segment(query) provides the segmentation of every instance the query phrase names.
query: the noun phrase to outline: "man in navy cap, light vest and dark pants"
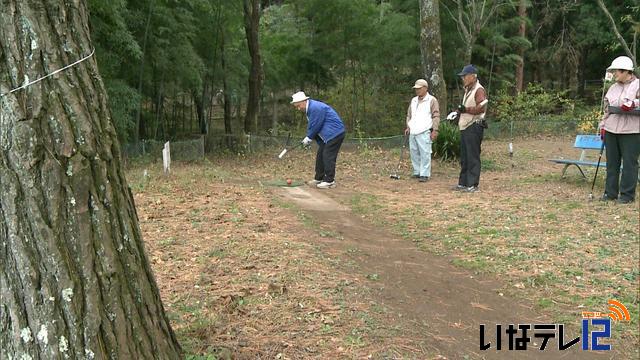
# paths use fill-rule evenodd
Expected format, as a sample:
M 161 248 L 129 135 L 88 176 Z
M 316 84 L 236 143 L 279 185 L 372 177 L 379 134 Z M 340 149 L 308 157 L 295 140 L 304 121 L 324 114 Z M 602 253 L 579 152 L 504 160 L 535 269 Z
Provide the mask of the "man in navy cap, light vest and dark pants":
M 487 94 L 478 81 L 475 66 L 466 65 L 458 74 L 464 84 L 464 97 L 458 106 L 460 128 L 460 177 L 455 190 L 478 191 L 480 184 L 480 151 L 487 112 Z

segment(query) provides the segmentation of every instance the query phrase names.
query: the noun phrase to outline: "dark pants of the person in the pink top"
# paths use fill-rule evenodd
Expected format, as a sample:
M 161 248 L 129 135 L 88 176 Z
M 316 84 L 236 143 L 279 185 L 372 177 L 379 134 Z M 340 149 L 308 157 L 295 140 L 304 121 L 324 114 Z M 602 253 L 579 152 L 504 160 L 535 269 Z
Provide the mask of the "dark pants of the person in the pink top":
M 624 200 L 634 200 L 638 182 L 638 156 L 640 156 L 640 134 L 614 134 L 606 132 L 607 181 L 605 193 L 615 199 L 620 193 Z M 622 177 L 620 164 L 622 163 Z

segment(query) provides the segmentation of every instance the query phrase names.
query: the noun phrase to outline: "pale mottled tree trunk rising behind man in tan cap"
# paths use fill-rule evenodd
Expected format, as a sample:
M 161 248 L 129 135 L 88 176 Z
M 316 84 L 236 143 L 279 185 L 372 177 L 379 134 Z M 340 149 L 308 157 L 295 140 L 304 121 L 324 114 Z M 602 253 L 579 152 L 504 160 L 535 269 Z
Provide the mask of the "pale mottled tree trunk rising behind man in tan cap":
M 440 10 L 437 0 L 420 0 L 420 50 L 429 92 L 438 99 L 440 113 L 446 114 L 447 87 L 442 75 Z

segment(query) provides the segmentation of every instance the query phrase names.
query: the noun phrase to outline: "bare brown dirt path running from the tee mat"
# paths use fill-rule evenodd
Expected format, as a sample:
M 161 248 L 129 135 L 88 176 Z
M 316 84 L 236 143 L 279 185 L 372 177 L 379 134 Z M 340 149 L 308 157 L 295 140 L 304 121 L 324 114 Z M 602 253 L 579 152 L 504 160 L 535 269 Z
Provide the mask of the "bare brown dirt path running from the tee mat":
M 328 253 L 351 251 L 359 269 L 369 278 L 379 301 L 396 314 L 395 321 L 409 324 L 424 334 L 425 343 L 448 359 L 606 359 L 611 353 L 578 350 L 558 351 L 558 339 L 551 339 L 545 351 L 538 350 L 541 338 L 532 336 L 528 351 L 508 351 L 508 324 L 542 324 L 551 321 L 532 310 L 532 304 L 502 296 L 496 279 L 474 275 L 457 268 L 446 257 L 421 252 L 414 244 L 385 232 L 353 214 L 333 199 L 349 196 L 349 190 L 321 191 L 308 187 L 274 188 L 276 195 L 295 203 L 323 229 L 340 234 L 321 241 Z M 345 193 L 346 192 L 346 193 Z M 479 325 L 486 324 L 487 341 L 495 344 L 495 325 L 502 324 L 502 349 L 495 345 L 479 350 Z M 576 337 L 570 332 L 565 335 Z M 571 338 L 572 339 L 572 338 Z M 571 339 L 565 339 L 565 342 Z

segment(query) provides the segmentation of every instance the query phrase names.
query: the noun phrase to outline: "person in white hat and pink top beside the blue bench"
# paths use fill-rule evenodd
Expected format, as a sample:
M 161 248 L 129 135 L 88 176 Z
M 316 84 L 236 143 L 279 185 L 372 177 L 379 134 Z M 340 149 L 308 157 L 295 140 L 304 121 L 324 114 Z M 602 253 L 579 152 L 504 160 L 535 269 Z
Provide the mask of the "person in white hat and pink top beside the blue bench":
M 638 108 L 640 80 L 633 73 L 631 58 L 619 56 L 607 71 L 613 73 L 615 83 L 604 98 L 604 115 L 600 121 L 607 154 L 607 179 L 602 201 L 616 200 L 629 204 L 635 200 L 640 156 L 640 109 Z M 622 177 L 620 165 L 623 164 Z

